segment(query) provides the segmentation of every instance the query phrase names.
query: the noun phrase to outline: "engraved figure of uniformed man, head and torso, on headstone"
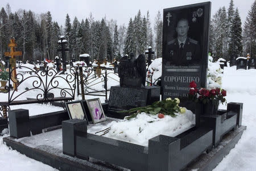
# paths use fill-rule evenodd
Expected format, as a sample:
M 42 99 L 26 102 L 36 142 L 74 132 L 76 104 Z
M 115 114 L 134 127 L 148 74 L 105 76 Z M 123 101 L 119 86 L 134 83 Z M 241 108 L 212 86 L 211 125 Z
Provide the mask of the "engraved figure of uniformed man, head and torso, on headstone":
M 200 59 L 199 42 L 188 37 L 189 23 L 187 19 L 177 22 L 177 37 L 167 42 L 168 61 L 175 65 L 195 63 Z

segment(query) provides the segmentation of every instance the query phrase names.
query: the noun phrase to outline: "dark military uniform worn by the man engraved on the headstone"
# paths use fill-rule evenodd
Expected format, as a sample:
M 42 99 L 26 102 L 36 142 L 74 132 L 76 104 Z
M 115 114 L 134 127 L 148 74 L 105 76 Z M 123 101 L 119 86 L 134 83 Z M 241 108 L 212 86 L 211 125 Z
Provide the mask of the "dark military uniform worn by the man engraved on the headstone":
M 185 42 L 180 42 L 176 39 L 168 42 L 168 55 L 171 63 L 178 65 L 195 63 L 200 60 L 199 42 L 189 37 Z

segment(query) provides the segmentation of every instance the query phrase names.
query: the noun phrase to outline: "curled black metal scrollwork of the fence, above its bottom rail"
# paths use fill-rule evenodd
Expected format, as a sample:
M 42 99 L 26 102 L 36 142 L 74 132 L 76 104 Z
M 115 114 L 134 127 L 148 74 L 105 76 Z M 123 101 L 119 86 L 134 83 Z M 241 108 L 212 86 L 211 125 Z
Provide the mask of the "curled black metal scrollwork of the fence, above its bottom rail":
M 15 100 L 20 100 L 22 95 L 27 92 L 35 92 L 36 95 L 34 96 L 38 102 L 52 101 L 56 96 L 75 98 L 77 73 L 75 67 L 70 67 L 65 74 L 63 74 L 63 71 L 57 72 L 48 67 L 46 67 L 46 70 L 39 72 L 26 66 L 20 66 L 10 70 L 9 74 L 14 72 L 15 69 L 19 70 L 20 68 L 28 70 L 30 75 L 27 76 L 26 74 L 18 72 L 16 75 L 18 86 L 14 91 L 10 91 L 9 89 L 9 104 Z M 11 82 L 13 82 L 13 80 L 9 80 L 9 87 Z M 24 88 L 24 86 L 27 87 Z M 26 91 L 23 91 L 23 89 L 26 89 Z M 57 95 L 58 93 L 59 95 Z

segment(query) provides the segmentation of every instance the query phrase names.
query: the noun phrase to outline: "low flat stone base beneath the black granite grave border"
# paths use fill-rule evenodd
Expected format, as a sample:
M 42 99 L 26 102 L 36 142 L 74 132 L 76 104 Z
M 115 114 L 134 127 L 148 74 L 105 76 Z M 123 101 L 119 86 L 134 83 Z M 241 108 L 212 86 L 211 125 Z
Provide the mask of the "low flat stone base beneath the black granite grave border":
M 228 132 L 221 140 L 219 146 L 213 148 L 209 153 L 202 153 L 186 168 L 183 168 L 183 170 L 212 170 L 220 163 L 223 157 L 234 148 L 244 130 L 246 130 L 246 126 L 241 126 Z M 38 144 L 45 145 L 35 146 L 35 140 Z M 91 157 L 89 157 L 89 160 L 82 160 L 77 157 L 64 155 L 62 145 L 58 145 L 62 142 L 60 129 L 26 137 L 22 140 L 8 136 L 3 138 L 3 142 L 27 157 L 41 161 L 59 170 L 123 170 L 119 166 L 105 163 L 104 161 L 96 160 Z

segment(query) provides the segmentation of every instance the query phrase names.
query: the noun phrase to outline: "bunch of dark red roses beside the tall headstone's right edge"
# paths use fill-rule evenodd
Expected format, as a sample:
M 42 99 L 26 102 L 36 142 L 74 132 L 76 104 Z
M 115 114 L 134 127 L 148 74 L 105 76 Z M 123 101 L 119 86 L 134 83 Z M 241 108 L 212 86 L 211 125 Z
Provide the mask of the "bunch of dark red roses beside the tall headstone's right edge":
M 203 104 L 209 104 L 212 102 L 215 106 L 221 103 L 223 104 L 226 99 L 226 91 L 225 89 L 220 88 L 212 88 L 212 89 L 205 89 L 205 88 L 196 88 L 196 83 L 192 81 L 189 83 L 189 99 L 195 102 L 203 102 Z

